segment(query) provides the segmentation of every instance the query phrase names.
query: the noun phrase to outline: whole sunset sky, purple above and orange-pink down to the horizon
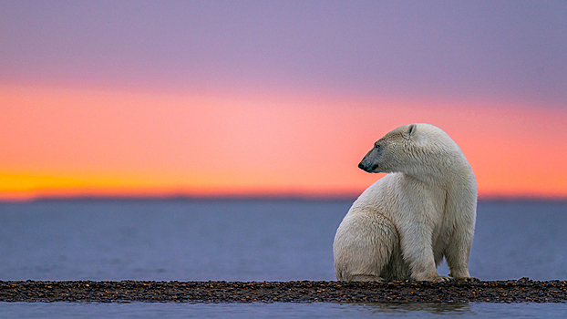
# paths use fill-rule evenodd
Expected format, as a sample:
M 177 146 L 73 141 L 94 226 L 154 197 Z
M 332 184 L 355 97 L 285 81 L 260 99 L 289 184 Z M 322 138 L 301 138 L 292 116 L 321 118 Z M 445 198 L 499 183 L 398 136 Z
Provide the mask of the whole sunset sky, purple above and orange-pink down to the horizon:
M 565 1 L 0 0 L 0 200 L 355 196 L 444 129 L 481 197 L 567 198 Z

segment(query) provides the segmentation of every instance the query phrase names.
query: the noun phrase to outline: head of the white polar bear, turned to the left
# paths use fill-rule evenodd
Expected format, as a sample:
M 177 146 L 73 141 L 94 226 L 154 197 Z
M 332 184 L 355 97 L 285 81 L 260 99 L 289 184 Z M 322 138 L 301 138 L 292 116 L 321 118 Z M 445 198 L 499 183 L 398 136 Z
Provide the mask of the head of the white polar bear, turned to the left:
M 369 173 L 428 175 L 443 170 L 459 153 L 457 144 L 443 130 L 430 124 L 410 124 L 378 139 L 358 167 Z

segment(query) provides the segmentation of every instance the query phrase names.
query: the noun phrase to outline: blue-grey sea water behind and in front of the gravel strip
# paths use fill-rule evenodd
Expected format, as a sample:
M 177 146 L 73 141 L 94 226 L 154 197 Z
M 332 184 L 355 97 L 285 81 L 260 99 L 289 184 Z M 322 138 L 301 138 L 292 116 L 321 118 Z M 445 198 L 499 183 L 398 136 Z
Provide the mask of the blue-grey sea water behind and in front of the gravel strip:
M 352 200 L 0 202 L 0 281 L 333 281 Z M 479 201 L 469 272 L 567 279 L 567 201 Z M 439 274 L 448 274 L 442 264 Z M 567 304 L 0 303 L 0 318 L 567 317 Z

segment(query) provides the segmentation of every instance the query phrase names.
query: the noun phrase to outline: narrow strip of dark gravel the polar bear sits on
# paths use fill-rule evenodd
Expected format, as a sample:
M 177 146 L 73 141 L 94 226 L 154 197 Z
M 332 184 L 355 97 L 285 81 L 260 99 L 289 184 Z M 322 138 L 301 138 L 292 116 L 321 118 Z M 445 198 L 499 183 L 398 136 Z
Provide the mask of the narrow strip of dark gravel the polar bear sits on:
M 2 302 L 565 303 L 567 282 L 0 282 Z

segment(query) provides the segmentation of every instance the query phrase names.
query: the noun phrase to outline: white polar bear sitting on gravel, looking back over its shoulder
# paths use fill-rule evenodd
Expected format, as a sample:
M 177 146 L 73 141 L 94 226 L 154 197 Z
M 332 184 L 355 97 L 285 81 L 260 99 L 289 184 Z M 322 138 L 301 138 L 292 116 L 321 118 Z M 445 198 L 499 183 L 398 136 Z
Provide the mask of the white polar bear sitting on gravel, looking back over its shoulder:
M 394 129 L 358 167 L 388 174 L 358 197 L 336 230 L 337 280 L 478 280 L 469 275 L 477 182 L 447 133 L 423 123 Z M 449 277 L 436 270 L 443 257 Z

